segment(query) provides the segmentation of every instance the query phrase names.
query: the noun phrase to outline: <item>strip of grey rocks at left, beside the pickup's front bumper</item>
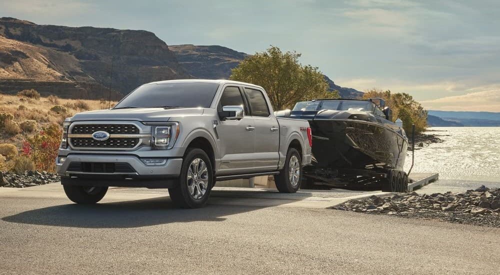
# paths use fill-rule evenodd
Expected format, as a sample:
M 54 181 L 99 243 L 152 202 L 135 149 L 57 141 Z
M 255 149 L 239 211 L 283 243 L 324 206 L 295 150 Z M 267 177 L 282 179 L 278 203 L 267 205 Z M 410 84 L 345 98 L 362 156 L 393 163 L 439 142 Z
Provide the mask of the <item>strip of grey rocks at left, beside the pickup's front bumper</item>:
M 46 171 L 0 172 L 0 187 L 24 188 L 57 181 L 57 174 Z

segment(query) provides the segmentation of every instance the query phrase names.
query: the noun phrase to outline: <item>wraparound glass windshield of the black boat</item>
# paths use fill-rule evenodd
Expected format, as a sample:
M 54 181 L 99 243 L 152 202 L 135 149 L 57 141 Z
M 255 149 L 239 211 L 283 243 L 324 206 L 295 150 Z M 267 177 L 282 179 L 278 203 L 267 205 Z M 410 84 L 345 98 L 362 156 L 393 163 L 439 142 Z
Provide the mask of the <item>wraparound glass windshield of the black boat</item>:
M 349 110 L 358 109 L 362 111 L 373 111 L 374 104 L 367 100 L 314 100 L 297 102 L 292 111 L 315 111 L 322 109 Z

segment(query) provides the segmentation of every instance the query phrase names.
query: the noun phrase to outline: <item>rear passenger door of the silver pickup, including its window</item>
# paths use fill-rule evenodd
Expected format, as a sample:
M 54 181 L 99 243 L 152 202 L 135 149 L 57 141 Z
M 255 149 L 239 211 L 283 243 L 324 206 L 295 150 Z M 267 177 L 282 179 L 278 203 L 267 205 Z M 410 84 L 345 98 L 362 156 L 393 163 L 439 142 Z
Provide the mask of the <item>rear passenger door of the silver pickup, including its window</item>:
M 279 125 L 271 114 L 264 92 L 254 87 L 244 87 L 250 114 L 255 127 L 254 163 L 257 171 L 277 169 L 279 161 Z

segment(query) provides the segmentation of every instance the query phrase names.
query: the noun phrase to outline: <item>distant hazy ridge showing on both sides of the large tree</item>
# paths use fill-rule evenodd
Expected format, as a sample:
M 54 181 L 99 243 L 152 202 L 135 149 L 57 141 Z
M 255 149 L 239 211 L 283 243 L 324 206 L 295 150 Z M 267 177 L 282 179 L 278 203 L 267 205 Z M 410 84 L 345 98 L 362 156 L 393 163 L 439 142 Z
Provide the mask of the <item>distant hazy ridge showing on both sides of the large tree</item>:
M 231 75 L 231 69 L 236 67 L 241 60 L 250 54 L 235 51 L 228 47 L 211 45 L 170 45 L 178 62 L 184 66 L 188 73 L 196 78 L 227 79 Z M 324 76 L 329 90 L 337 90 L 341 97 L 362 97 L 363 92 L 353 88 L 344 88 L 333 82 L 328 76 Z

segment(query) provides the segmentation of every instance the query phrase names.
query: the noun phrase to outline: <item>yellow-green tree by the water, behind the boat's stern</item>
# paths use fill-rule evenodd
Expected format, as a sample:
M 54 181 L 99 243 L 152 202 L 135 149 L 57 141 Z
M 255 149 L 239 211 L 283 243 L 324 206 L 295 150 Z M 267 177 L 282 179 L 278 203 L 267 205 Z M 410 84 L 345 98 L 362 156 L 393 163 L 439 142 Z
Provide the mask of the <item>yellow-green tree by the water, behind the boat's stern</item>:
M 427 111 L 407 93 L 391 93 L 390 90 L 372 88 L 363 94 L 363 98 L 381 97 L 392 109 L 392 120 L 400 118 L 407 134 L 411 133 L 411 124 L 415 124 L 415 132 L 419 133 L 427 127 Z

